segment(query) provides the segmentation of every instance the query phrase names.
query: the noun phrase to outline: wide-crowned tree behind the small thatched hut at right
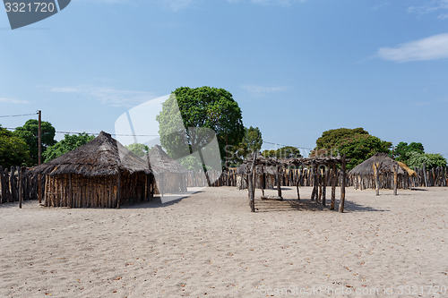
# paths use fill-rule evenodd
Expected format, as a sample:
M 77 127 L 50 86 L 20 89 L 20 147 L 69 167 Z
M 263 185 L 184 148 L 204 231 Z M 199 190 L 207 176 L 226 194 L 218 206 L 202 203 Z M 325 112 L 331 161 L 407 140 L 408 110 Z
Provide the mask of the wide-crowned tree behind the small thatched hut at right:
M 353 130 L 340 128 L 323 132 L 322 137 L 316 140 L 314 155 L 340 154 L 350 159 L 347 169 L 371 158 L 375 153 L 389 153 L 392 143 L 370 135 L 363 128 Z

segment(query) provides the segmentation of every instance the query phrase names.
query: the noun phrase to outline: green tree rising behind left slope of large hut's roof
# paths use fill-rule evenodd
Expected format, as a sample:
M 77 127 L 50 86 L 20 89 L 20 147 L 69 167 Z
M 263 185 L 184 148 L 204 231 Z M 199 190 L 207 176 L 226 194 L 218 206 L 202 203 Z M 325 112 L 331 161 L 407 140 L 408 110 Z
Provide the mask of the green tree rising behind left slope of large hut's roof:
M 44 162 L 48 162 L 52 159 L 60 157 L 61 155 L 81 147 L 90 140 L 95 139 L 94 136 L 89 135 L 85 132 L 79 134 L 65 134 L 64 140 L 60 140 L 53 146 L 49 146 L 45 152 L 42 154 Z

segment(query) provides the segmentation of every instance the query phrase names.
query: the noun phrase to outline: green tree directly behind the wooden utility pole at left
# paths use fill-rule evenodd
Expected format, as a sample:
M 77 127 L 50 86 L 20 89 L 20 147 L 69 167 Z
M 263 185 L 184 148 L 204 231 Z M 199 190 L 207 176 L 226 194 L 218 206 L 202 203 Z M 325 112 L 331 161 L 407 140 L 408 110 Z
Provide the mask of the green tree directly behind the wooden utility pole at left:
M 47 147 L 56 144 L 56 130 L 51 123 L 43 121 L 42 129 L 42 153 Z M 36 119 L 28 120 L 23 126 L 17 127 L 13 135 L 21 138 L 28 145 L 30 150 L 30 165 L 37 165 L 39 161 L 39 121 Z

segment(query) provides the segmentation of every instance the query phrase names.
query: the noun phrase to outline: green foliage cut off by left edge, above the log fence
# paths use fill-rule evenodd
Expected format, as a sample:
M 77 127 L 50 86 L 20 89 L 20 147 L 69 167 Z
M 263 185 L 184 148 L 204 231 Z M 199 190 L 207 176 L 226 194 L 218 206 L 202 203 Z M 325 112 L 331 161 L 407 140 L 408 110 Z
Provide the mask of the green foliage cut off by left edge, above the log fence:
M 28 145 L 0 125 L 0 166 L 25 166 L 30 163 Z

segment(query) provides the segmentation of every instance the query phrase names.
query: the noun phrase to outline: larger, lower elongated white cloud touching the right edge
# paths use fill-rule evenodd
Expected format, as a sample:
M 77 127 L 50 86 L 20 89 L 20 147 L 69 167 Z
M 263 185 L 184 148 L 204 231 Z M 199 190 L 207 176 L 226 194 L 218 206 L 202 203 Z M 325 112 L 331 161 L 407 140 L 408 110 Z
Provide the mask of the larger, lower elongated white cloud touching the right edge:
M 376 55 L 384 60 L 396 62 L 448 58 L 448 33 L 410 41 L 396 47 L 381 47 Z

